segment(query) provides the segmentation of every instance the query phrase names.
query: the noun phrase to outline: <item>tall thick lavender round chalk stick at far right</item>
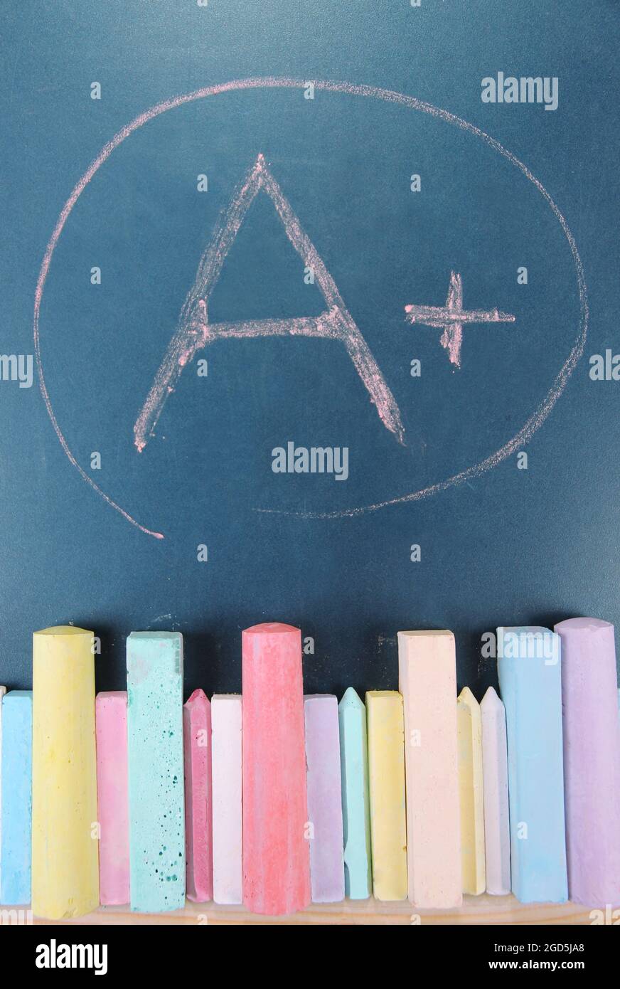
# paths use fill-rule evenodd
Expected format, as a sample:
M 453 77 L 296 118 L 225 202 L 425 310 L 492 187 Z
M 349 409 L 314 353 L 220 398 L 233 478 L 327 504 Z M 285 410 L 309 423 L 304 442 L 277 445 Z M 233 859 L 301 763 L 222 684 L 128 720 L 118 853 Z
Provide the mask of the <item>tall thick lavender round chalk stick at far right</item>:
M 555 626 L 562 714 L 569 896 L 620 905 L 620 730 L 614 629 L 597 618 Z

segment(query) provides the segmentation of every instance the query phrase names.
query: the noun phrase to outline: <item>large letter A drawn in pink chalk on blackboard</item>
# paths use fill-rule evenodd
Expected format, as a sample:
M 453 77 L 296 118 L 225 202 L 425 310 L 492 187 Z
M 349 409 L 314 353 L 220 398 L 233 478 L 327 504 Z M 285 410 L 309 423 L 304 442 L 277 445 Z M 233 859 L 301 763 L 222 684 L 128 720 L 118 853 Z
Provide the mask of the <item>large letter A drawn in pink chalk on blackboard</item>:
M 293 319 L 248 319 L 240 322 L 209 322 L 209 299 L 221 275 L 225 257 L 236 237 L 245 214 L 260 191 L 271 199 L 287 236 L 304 265 L 314 272 L 314 284 L 318 286 L 327 308 L 317 316 Z M 198 266 L 196 281 L 181 310 L 174 336 L 168 344 L 164 358 L 146 401 L 133 426 L 133 443 L 141 452 L 153 430 L 166 399 L 183 371 L 197 353 L 214 340 L 259 336 L 316 336 L 339 340 L 368 391 L 371 402 L 377 406 L 379 417 L 399 443 L 404 442 L 404 429 L 399 406 L 388 388 L 366 340 L 355 320 L 347 310 L 336 284 L 318 256 L 310 238 L 302 229 L 280 186 L 272 176 L 262 154 L 238 186 L 227 209 L 222 213 L 207 250 Z

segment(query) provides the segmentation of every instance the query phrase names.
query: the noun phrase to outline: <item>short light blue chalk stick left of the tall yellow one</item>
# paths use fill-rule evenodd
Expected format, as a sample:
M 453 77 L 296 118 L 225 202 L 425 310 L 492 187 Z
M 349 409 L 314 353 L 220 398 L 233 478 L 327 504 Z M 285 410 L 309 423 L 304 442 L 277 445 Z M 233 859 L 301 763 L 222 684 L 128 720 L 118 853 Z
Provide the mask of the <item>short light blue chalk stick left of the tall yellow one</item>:
M 2 698 L 2 888 L 0 903 L 31 901 L 33 691 Z

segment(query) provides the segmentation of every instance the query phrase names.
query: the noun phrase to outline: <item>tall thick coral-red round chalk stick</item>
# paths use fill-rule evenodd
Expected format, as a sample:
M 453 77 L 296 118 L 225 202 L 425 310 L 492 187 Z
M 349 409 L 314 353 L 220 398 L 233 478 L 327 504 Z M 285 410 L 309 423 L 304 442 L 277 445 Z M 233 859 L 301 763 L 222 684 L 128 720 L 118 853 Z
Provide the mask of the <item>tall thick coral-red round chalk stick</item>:
M 242 652 L 243 903 L 289 914 L 310 904 L 302 634 L 254 625 Z

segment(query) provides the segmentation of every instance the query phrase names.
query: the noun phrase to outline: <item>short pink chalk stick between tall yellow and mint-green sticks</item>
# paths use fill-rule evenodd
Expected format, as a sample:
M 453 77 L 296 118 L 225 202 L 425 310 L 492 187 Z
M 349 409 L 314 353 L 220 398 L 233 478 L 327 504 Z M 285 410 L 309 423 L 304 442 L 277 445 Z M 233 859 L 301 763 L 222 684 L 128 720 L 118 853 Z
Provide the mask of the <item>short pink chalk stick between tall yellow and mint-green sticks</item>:
M 99 816 L 99 902 L 130 902 L 130 809 L 127 762 L 127 691 L 95 698 L 97 803 Z

